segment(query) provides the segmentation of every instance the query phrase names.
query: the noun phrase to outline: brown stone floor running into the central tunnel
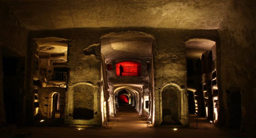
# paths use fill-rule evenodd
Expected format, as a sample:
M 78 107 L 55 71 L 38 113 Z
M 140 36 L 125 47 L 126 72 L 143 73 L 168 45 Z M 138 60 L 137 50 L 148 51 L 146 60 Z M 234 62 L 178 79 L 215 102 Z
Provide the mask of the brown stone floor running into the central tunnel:
M 190 115 L 190 127 L 181 127 L 173 130 L 173 127 L 148 128 L 143 117 L 131 106 L 122 106 L 117 117 L 109 123 L 109 129 L 102 127 L 87 127 L 78 130 L 75 127 L 46 127 L 34 126 L 18 128 L 19 136 L 24 138 L 86 138 L 86 137 L 120 137 L 120 138 L 151 138 L 151 137 L 195 137 L 195 138 L 232 138 L 249 137 L 239 130 L 217 128 L 204 118 L 198 118 L 198 129 L 196 129 L 196 116 Z M 30 133 L 31 132 L 31 133 Z

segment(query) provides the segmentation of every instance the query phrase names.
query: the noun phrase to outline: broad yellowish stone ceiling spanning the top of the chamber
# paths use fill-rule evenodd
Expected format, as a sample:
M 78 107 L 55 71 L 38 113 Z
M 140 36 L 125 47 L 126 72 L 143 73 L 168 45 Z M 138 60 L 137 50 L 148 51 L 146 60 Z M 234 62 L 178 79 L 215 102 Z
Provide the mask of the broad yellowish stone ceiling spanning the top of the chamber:
M 230 0 L 4 1 L 28 29 L 146 26 L 217 29 Z

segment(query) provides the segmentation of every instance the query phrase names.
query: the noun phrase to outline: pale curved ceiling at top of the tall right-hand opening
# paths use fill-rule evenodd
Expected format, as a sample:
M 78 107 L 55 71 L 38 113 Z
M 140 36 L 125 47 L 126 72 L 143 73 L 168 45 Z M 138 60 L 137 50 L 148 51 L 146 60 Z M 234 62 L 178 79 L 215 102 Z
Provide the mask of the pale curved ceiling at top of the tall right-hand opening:
M 211 50 L 216 43 L 208 39 L 191 39 L 185 43 L 186 56 L 191 59 L 201 58 L 202 54 Z

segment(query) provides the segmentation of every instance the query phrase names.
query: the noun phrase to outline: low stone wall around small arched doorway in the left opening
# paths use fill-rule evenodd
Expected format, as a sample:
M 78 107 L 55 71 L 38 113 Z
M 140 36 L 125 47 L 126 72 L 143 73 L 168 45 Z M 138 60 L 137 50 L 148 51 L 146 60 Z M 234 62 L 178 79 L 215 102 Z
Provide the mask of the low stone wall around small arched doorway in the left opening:
M 53 92 L 60 94 L 60 118 L 64 119 L 64 109 L 65 109 L 65 93 L 66 88 L 60 87 L 46 87 L 46 88 L 39 88 L 38 89 L 38 101 L 39 101 L 39 114 L 47 118 L 48 116 L 48 109 L 51 108 L 51 103 L 49 103 L 49 95 Z

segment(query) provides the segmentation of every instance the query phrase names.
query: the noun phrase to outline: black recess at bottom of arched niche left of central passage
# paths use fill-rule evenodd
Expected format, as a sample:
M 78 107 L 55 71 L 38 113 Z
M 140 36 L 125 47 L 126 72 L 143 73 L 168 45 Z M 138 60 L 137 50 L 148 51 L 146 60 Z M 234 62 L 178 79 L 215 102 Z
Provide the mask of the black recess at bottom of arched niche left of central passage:
M 93 110 L 90 110 L 90 109 L 74 108 L 73 118 L 74 119 L 93 119 L 94 113 L 93 113 Z

